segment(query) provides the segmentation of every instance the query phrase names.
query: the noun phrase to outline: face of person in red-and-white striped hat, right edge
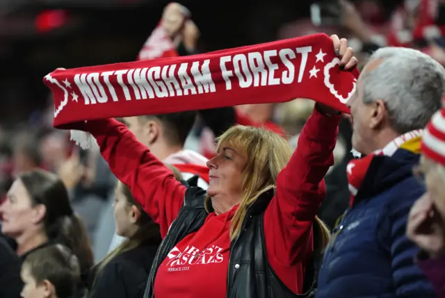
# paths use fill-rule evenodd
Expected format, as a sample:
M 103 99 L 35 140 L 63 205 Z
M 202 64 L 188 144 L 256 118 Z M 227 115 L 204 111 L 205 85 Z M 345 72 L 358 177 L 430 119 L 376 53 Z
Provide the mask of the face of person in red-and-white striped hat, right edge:
M 421 158 L 421 169 L 425 174 L 425 184 L 428 194 L 434 202 L 437 210 L 445 217 L 445 169 L 442 168 L 443 173 L 437 171 L 434 161 L 423 156 Z

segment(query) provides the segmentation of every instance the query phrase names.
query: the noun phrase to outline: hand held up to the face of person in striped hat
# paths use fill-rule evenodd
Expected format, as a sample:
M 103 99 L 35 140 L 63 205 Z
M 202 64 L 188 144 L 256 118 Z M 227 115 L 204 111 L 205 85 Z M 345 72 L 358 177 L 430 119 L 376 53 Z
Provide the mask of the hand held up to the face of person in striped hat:
M 407 223 L 407 237 L 430 258 L 445 253 L 444 220 L 435 210 L 428 192 L 414 203 Z

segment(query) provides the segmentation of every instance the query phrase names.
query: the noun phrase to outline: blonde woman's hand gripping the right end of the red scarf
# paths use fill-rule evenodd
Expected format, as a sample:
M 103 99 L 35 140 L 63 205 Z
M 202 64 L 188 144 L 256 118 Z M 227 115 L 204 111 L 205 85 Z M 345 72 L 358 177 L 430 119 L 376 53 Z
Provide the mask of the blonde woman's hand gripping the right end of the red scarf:
M 350 70 L 357 66 L 359 60 L 354 56 L 354 50 L 348 47 L 348 40 L 346 38 L 339 38 L 336 34 L 331 35 L 332 43 L 334 44 L 335 53 L 340 59 L 340 68 L 343 70 Z M 340 115 L 340 111 L 325 104 L 316 104 L 316 109 L 327 116 Z

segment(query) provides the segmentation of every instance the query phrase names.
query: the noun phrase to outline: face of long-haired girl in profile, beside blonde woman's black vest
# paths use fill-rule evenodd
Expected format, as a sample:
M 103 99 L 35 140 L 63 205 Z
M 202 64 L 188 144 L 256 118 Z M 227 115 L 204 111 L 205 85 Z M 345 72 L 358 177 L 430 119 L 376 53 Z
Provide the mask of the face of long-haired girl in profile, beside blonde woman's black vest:
M 130 238 L 137 229 L 136 215 L 124 194 L 116 192 L 113 202 L 116 233 L 122 237 Z

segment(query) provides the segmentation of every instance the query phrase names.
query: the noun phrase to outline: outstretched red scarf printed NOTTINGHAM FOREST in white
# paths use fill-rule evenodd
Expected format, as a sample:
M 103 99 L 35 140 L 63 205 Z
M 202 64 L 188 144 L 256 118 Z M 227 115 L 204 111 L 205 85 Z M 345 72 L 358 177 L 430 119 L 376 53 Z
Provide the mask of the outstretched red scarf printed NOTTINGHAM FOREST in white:
M 54 95 L 54 126 L 309 98 L 348 113 L 359 72 L 338 67 L 325 34 L 195 56 L 76 69 L 44 77 Z

